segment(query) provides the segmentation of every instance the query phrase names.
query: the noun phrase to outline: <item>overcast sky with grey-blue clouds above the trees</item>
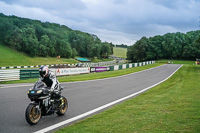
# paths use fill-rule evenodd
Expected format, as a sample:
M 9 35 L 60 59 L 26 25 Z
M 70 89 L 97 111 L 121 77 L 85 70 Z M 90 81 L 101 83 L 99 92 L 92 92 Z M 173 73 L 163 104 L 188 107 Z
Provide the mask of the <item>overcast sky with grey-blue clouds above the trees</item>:
M 114 44 L 200 29 L 200 0 L 0 0 L 0 12 L 59 23 Z

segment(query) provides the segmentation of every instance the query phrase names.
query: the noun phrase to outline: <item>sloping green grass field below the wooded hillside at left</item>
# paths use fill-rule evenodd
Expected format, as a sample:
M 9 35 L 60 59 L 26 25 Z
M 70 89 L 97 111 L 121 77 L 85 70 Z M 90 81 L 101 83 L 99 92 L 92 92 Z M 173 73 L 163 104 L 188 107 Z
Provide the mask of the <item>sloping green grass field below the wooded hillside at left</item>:
M 12 50 L 0 45 L 0 67 L 7 66 L 30 66 L 30 65 L 50 65 L 50 64 L 68 64 L 76 63 L 74 59 L 52 57 L 29 57 L 23 53 Z

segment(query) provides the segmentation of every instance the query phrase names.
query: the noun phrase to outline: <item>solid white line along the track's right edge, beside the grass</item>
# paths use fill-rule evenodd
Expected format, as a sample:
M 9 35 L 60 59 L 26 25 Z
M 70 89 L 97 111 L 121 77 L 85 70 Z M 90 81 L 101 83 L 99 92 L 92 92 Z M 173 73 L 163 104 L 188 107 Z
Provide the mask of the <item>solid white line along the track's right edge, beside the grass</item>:
M 86 116 L 89 116 L 89 115 L 91 115 L 91 114 L 93 114 L 93 113 L 95 113 L 95 112 L 98 112 L 98 111 L 100 111 L 100 110 L 103 110 L 103 109 L 105 109 L 105 108 L 107 108 L 107 107 L 110 107 L 110 106 L 112 106 L 112 105 L 114 105 L 114 104 L 117 104 L 117 103 L 119 103 L 119 102 L 121 102 L 121 101 L 124 101 L 124 100 L 126 100 L 126 99 L 131 98 L 131 97 L 134 97 L 134 96 L 136 96 L 136 95 L 138 95 L 138 94 L 140 94 L 140 93 L 143 93 L 143 92 L 147 91 L 148 89 L 153 88 L 153 87 L 155 87 L 155 86 L 161 84 L 162 82 L 166 81 L 167 79 L 169 79 L 169 78 L 170 78 L 175 72 L 177 72 L 182 66 L 183 66 L 183 65 L 181 65 L 176 71 L 174 71 L 174 72 L 173 72 L 171 75 L 169 75 L 166 79 L 164 79 L 164 80 L 162 80 L 162 81 L 160 81 L 160 82 L 158 82 L 158 83 L 156 83 L 156 84 L 154 84 L 154 85 L 152 85 L 152 86 L 150 86 L 150 87 L 147 87 L 147 88 L 145 88 L 145 89 L 143 89 L 143 90 L 141 90 L 141 91 L 138 91 L 138 92 L 136 92 L 136 93 L 133 93 L 133 94 L 131 94 L 131 95 L 129 95 L 129 96 L 126 96 L 126 97 L 124 97 L 124 98 L 118 99 L 118 100 L 116 100 L 116 101 L 114 101 L 114 102 L 111 102 L 111 103 L 108 103 L 108 104 L 106 104 L 106 105 L 103 105 L 103 106 L 101 106 L 101 107 L 99 107 L 99 108 L 93 109 L 93 110 L 91 110 L 91 111 L 89 111 L 89 112 L 86 112 L 86 113 L 84 113 L 84 114 L 75 116 L 75 117 L 73 117 L 73 118 L 70 118 L 70 119 L 68 119 L 68 120 L 62 121 L 62 122 L 57 123 L 57 124 L 55 124 L 55 125 L 49 126 L 49 127 L 44 128 L 44 129 L 42 129 L 42 130 L 39 130 L 39 131 L 37 131 L 37 132 L 35 132 L 35 133 L 45 133 L 45 132 L 51 131 L 51 130 L 56 129 L 56 128 L 60 127 L 60 126 L 69 124 L 69 123 L 71 123 L 71 122 L 73 122 L 73 121 L 79 120 L 79 119 L 84 118 L 84 117 L 86 117 Z

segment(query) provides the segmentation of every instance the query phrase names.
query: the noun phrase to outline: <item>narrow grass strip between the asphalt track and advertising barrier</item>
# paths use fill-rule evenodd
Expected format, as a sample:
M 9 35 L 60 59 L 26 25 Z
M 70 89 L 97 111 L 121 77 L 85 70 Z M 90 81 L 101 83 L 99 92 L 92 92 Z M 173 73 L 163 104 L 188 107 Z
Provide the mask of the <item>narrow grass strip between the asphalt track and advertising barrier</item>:
M 153 67 L 160 66 L 160 65 L 162 65 L 162 63 L 155 63 L 155 64 L 151 64 L 151 65 L 123 69 L 123 70 L 118 70 L 118 71 L 107 71 L 107 72 L 100 72 L 100 73 L 62 76 L 62 77 L 57 77 L 57 78 L 60 82 L 95 80 L 95 79 L 102 79 L 102 78 L 109 78 L 109 77 L 116 77 L 116 76 L 121 76 L 121 75 L 125 75 L 125 74 L 130 74 L 133 72 L 142 71 L 142 70 L 153 68 Z M 5 82 L 1 82 L 1 84 L 34 83 L 37 80 L 38 80 L 38 78 L 37 79 L 27 79 L 27 80 L 17 80 L 17 81 L 5 81 Z

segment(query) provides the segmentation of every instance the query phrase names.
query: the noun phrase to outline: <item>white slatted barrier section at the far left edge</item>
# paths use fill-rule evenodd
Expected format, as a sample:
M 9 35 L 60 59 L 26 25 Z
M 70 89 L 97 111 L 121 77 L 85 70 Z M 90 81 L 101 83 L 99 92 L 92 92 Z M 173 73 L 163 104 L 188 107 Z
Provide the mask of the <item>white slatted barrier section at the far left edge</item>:
M 0 70 L 0 81 L 19 80 L 19 69 Z

